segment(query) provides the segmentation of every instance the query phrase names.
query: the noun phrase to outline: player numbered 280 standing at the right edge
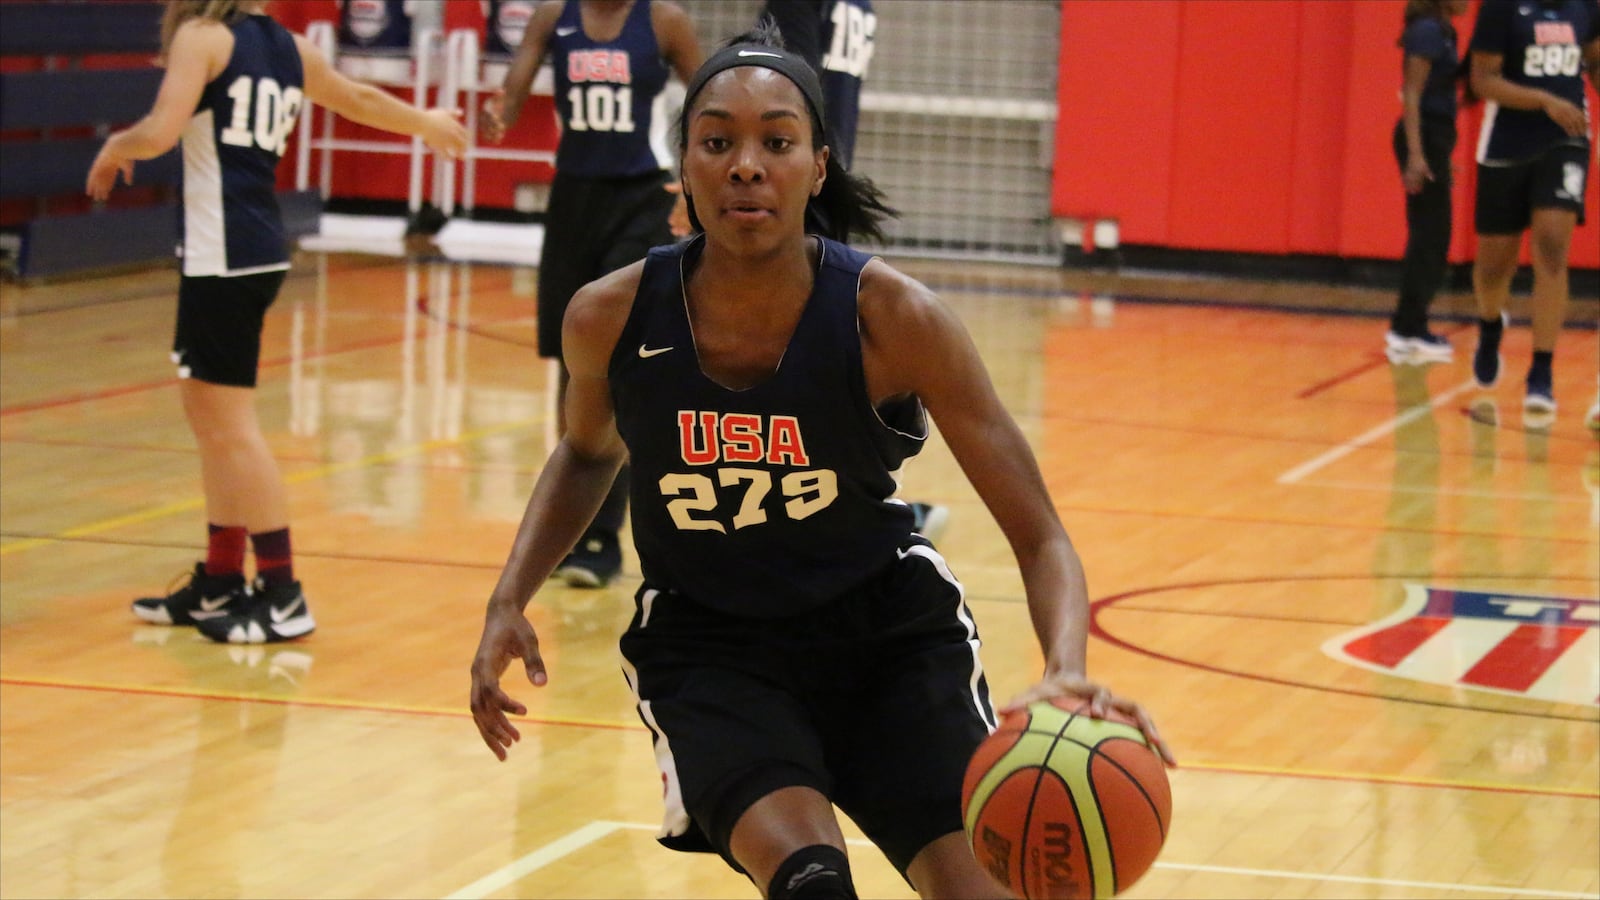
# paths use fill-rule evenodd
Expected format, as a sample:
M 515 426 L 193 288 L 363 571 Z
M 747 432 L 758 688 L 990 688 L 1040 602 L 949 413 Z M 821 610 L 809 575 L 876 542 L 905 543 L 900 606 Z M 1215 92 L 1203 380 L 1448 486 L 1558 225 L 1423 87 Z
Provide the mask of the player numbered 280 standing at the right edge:
M 1478 386 L 1499 380 L 1499 343 L 1522 232 L 1533 255 L 1533 364 L 1523 410 L 1555 413 L 1550 362 L 1566 317 L 1566 251 L 1582 221 L 1590 162 L 1584 70 L 1600 78 L 1597 0 L 1485 0 L 1472 32 L 1472 90 L 1486 101 L 1478 135 Z M 1600 83 L 1600 82 L 1597 82 Z

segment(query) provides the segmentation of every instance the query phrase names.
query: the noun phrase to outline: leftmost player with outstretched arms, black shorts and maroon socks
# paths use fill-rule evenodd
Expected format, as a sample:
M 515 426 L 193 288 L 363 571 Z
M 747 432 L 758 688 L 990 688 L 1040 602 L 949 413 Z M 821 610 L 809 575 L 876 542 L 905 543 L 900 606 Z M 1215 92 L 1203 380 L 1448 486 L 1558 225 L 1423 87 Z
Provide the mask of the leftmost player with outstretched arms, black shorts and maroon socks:
M 200 445 L 205 562 L 165 597 L 133 612 L 197 625 L 206 637 L 259 644 L 315 628 L 290 552 L 288 492 L 256 420 L 261 322 L 290 267 L 275 175 L 304 98 L 355 122 L 418 135 L 459 154 L 467 133 L 448 110 L 421 110 L 334 72 L 262 2 L 178 0 L 162 21 L 166 74 L 150 114 L 106 139 L 88 194 L 104 199 L 118 173 L 182 141 L 182 277 L 173 359 L 189 428 Z M 246 538 L 256 580 L 243 578 Z

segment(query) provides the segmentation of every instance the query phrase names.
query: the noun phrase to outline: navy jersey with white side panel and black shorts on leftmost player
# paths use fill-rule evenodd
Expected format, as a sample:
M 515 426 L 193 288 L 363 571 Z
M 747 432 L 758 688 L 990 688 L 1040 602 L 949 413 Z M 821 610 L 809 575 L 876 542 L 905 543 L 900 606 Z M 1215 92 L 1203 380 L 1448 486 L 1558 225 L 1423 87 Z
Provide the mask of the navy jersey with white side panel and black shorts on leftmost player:
M 299 122 L 304 72 L 270 16 L 230 26 L 234 54 L 182 133 L 179 375 L 254 386 L 261 319 L 290 267 L 277 165 Z

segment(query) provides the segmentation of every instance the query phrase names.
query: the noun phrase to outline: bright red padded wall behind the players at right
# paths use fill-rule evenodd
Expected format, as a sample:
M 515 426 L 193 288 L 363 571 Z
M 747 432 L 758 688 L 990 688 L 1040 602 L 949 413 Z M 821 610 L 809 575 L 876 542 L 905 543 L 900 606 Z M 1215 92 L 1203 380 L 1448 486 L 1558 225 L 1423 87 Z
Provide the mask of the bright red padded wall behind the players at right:
M 1403 6 L 1064 0 L 1053 213 L 1117 218 L 1125 243 L 1397 259 Z M 1458 19 L 1462 50 L 1475 13 Z M 1475 250 L 1480 119 L 1458 122 L 1454 261 Z M 1592 269 L 1600 173 L 1586 202 L 1571 263 Z

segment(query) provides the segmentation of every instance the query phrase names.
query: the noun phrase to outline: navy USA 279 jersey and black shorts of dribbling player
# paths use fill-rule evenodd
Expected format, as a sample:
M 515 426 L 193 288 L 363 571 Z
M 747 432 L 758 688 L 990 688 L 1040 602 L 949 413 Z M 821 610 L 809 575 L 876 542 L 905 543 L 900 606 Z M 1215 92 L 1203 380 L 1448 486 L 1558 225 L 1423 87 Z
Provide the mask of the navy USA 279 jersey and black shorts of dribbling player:
M 926 418 L 867 394 L 870 256 L 816 240 L 782 362 L 746 389 L 699 367 L 683 283 L 704 237 L 645 261 L 610 364 L 643 570 L 622 657 L 666 780 L 662 844 L 731 862 L 749 804 L 803 785 L 904 871 L 962 828 L 960 770 L 994 711 L 962 586 L 891 500 Z

